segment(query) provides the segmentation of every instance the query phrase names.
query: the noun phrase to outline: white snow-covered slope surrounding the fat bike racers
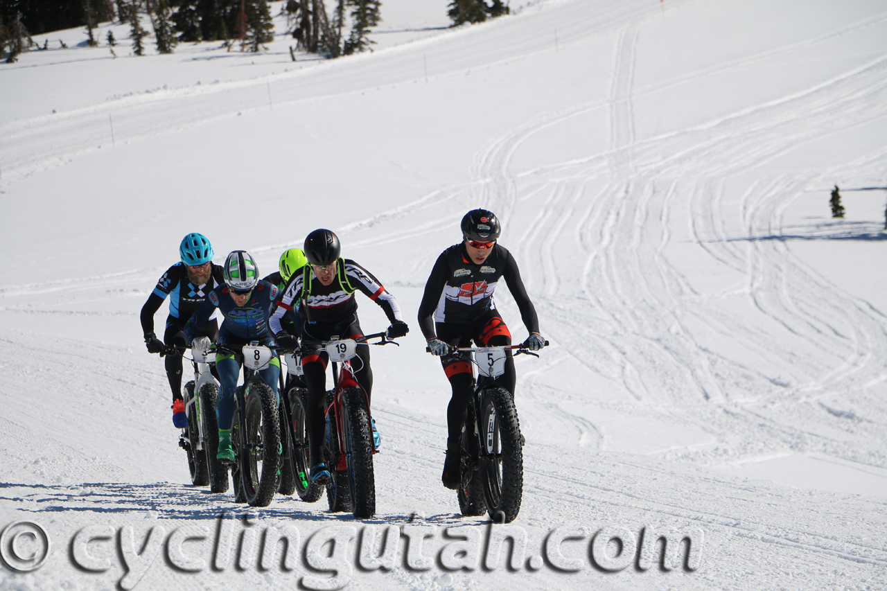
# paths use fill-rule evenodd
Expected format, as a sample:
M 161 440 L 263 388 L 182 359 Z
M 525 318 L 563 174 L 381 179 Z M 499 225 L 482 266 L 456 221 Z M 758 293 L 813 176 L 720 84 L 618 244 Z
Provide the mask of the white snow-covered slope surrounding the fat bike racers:
M 884 192 L 846 191 L 887 185 L 887 7 L 544 0 L 441 29 L 446 4 L 386 0 L 377 50 L 347 59 L 294 62 L 286 35 L 130 57 L 116 26 L 116 59 L 77 29 L 0 65 L 0 527 L 51 548 L 0 589 L 887 588 Z M 553 343 L 518 361 L 516 569 L 483 567 L 497 530 L 440 485 L 448 388 L 414 319 L 474 207 L 504 221 Z M 413 327 L 373 351 L 363 523 L 185 485 L 138 325 L 185 233 L 270 272 L 317 227 Z M 388 525 L 402 556 L 360 567 Z M 255 540 L 285 526 L 294 569 L 263 568 Z M 693 570 L 641 550 L 669 528 Z M 0 546 L 27 556 L 14 531 Z M 594 546 L 612 532 L 627 562 Z

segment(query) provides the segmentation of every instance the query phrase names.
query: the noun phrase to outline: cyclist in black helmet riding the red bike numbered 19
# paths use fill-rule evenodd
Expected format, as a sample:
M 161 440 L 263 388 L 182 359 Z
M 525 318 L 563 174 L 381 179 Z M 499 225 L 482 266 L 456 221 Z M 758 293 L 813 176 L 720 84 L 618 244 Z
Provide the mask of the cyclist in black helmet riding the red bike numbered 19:
M 302 268 L 301 273 L 294 273 L 290 278 L 284 295 L 271 313 L 269 326 L 281 347 L 297 345 L 294 335 L 288 334 L 280 324 L 284 314 L 297 304 L 302 317 L 302 338 L 305 340 L 329 341 L 333 336 L 363 336 L 357 319 L 357 299 L 354 297 L 357 290 L 385 311 L 391 322 L 386 331 L 390 338 L 404 336 L 409 332 L 394 296 L 381 286 L 372 273 L 349 258 L 341 258 L 341 244 L 333 232 L 325 229 L 311 232 L 305 239 L 304 250 L 309 264 Z M 357 357 L 359 361 L 355 363 L 355 377 L 369 399 L 373 391 L 369 345 L 358 344 Z M 326 485 L 331 477 L 321 453 L 326 425 L 324 406 L 327 363 L 329 356 L 319 345 L 316 351 L 302 356 L 302 379 L 308 386 L 305 423 L 308 427 L 310 457 L 314 464 L 310 478 L 318 485 Z M 379 442 L 379 433 L 373 423 L 373 445 L 377 449 Z

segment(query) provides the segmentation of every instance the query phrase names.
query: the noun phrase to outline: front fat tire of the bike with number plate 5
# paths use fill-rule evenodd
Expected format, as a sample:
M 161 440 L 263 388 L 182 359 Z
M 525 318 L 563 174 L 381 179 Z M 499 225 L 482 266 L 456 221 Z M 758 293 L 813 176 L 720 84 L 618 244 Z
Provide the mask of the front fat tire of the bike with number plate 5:
M 491 415 L 495 417 L 492 421 Z M 508 524 L 520 512 L 523 495 L 521 427 L 514 399 L 508 390 L 488 388 L 483 391 L 479 424 L 483 445 L 480 474 L 487 512 L 493 522 Z M 487 430 L 490 427 L 491 433 Z

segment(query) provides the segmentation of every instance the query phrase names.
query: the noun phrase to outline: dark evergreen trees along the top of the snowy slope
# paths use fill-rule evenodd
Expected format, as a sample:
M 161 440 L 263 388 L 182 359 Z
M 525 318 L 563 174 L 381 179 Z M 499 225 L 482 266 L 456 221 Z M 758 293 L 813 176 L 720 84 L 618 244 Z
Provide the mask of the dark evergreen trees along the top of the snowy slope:
M 324 0 L 287 0 L 287 33 L 296 46 L 332 58 L 372 49 L 375 42 L 369 33 L 381 22 L 381 1 L 328 1 L 334 3 L 332 18 Z M 447 14 L 455 27 L 509 12 L 502 0 L 452 0 Z M 31 35 L 75 27 L 85 27 L 87 43 L 98 45 L 93 29 L 118 20 L 130 24 L 133 52 L 142 55 L 147 33 L 139 22 L 140 13 L 150 17 L 161 53 L 173 51 L 178 42 L 198 41 L 224 41 L 229 47 L 239 41 L 242 49 L 259 51 L 274 38 L 267 0 L 0 0 L 0 50 L 8 46 L 8 60 L 14 61 L 15 55 L 34 44 Z M 346 14 L 352 28 L 344 37 Z M 108 44 L 114 43 L 109 34 Z

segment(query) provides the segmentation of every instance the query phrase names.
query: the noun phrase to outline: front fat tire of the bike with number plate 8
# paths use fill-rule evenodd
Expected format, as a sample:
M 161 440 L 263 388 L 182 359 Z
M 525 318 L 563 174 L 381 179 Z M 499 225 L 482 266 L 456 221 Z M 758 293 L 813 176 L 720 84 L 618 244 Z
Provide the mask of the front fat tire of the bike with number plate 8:
M 250 507 L 268 507 L 277 493 L 280 424 L 274 398 L 274 390 L 267 384 L 250 386 L 245 409 L 247 433 L 241 438 L 246 445 L 240 448 L 240 484 Z

